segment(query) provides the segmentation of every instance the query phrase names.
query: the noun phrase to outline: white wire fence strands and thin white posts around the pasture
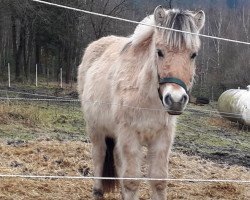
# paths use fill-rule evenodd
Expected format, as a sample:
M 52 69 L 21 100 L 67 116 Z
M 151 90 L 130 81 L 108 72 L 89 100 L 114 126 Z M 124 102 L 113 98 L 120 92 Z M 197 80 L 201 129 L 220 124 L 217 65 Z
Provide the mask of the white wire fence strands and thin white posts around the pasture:
M 78 12 L 84 12 L 84 13 L 88 13 L 88 14 L 94 14 L 94 15 L 98 15 L 101 17 L 109 17 L 115 20 L 122 20 L 122 21 L 126 21 L 126 22 L 130 22 L 130 23 L 136 23 L 138 24 L 139 22 L 135 22 L 132 20 L 126 20 L 126 19 L 122 19 L 122 18 L 118 18 L 118 17 L 112 17 L 112 16 L 107 16 L 107 15 L 103 15 L 103 14 L 99 14 L 99 13 L 93 13 L 93 12 L 89 12 L 89 11 L 85 11 L 85 10 L 80 10 L 80 9 L 76 9 L 76 8 L 71 8 L 71 7 L 67 7 L 67 6 L 62 6 L 62 5 L 58 5 L 58 4 L 53 4 L 53 3 L 49 3 L 49 2 L 44 2 L 44 1 L 39 1 L 39 0 L 33 0 L 34 2 L 38 2 L 38 3 L 43 3 L 43 4 L 47 4 L 50 6 L 57 6 L 60 8 L 65 8 L 65 9 L 69 9 L 69 10 L 74 10 L 74 11 L 78 11 Z M 147 25 L 148 24 L 144 24 Z M 162 27 L 159 27 L 162 28 Z M 171 29 L 172 30 L 172 29 Z M 178 31 L 178 30 L 174 30 L 174 31 Z M 181 31 L 180 31 L 181 32 Z M 193 33 L 189 33 L 189 32 L 185 32 L 188 34 L 193 34 Z M 207 38 L 212 38 L 212 39 L 219 39 L 219 40 L 223 40 L 223 41 L 227 41 L 227 42 L 235 42 L 235 43 L 239 43 L 239 44 L 246 44 L 249 45 L 250 43 L 248 42 L 242 42 L 242 41 L 237 41 L 237 40 L 231 40 L 231 39 L 225 39 L 225 38 L 219 38 L 219 37 L 214 37 L 214 36 L 208 36 L 208 35 L 202 35 L 202 34 L 198 34 L 202 37 L 207 37 Z M 11 86 L 11 80 L 10 80 L 10 65 L 8 65 L 8 85 L 9 87 Z M 37 78 L 37 67 L 36 67 L 36 86 L 38 86 L 38 78 Z M 62 69 L 60 70 L 60 87 L 63 87 L 62 85 Z M 5 91 L 6 92 L 6 91 Z M 22 93 L 19 93 L 22 94 Z M 25 94 L 23 94 L 25 95 Z M 26 95 L 29 95 L 26 93 Z M 39 95 L 39 94 L 32 94 L 33 96 L 36 97 L 40 97 L 40 98 L 34 98 L 34 99 L 30 99 L 30 98 L 9 98 L 9 97 L 1 97 L 0 100 L 2 101 L 48 101 L 48 102 L 52 102 L 52 101 L 56 101 L 56 102 L 78 102 L 78 100 L 76 99 L 71 99 L 71 98 L 58 98 L 58 97 L 54 97 L 54 96 L 44 96 L 44 97 L 49 97 L 49 98 L 41 98 L 43 95 Z M 109 102 L 100 102 L 100 101 L 94 101 L 94 102 L 89 102 L 86 101 L 85 103 L 92 103 L 94 105 L 110 105 Z M 121 105 L 116 105 L 116 106 L 121 106 Z M 148 108 L 142 108 L 142 107 L 136 107 L 136 106 L 131 106 L 131 105 L 122 105 L 125 108 L 130 108 L 130 109 L 142 109 L 142 110 L 148 110 Z M 151 109 L 152 110 L 152 109 Z M 155 110 L 155 109 L 153 109 Z M 217 115 L 219 116 L 219 113 L 217 111 L 212 111 L 212 110 L 205 110 L 205 109 L 189 109 L 188 111 L 192 112 L 201 112 L 202 114 L 208 114 L 208 115 Z M 167 110 L 166 110 L 167 112 Z M 184 124 L 185 125 L 185 124 Z M 197 128 L 185 125 L 190 129 L 196 130 L 196 131 L 200 131 Z M 226 180 L 226 179 L 218 179 L 218 180 L 214 180 L 214 179 L 209 179 L 209 180 L 205 180 L 205 179 L 151 179 L 151 178 L 115 178 L 115 177 L 110 177 L 110 178 L 106 178 L 106 177 L 83 177 L 83 176 L 39 176 L 39 175 L 22 175 L 22 174 L 0 174 L 0 177 L 2 178 L 32 178 L 32 179 L 114 179 L 114 180 L 141 180 L 141 181 L 152 181 L 152 180 L 164 180 L 164 181 L 175 181 L 175 182 L 227 182 L 227 183 L 241 183 L 241 184 L 250 184 L 250 180 Z

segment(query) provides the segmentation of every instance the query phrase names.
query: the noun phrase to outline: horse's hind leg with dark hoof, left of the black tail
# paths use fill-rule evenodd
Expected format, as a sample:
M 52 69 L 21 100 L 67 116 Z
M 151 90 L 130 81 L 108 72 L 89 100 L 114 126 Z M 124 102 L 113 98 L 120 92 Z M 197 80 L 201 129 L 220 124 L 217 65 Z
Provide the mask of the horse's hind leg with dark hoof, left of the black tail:
M 90 131 L 89 131 L 90 132 Z M 104 134 L 90 132 L 90 139 L 92 142 L 92 158 L 94 164 L 94 176 L 102 177 L 103 173 L 103 165 L 106 154 L 106 144 L 105 144 L 105 136 Z M 103 184 L 102 180 L 95 179 L 94 187 L 93 187 L 93 197 L 96 200 L 103 199 Z

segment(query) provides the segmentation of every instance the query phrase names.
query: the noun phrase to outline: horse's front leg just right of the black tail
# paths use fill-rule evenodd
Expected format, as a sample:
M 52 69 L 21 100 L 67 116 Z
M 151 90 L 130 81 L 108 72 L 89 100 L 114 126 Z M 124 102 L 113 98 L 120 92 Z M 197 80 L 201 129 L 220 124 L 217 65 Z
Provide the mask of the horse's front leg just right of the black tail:
M 136 133 L 120 132 L 117 143 L 121 166 L 119 176 L 125 178 L 141 177 L 142 151 Z M 123 200 L 138 200 L 138 180 L 121 180 Z

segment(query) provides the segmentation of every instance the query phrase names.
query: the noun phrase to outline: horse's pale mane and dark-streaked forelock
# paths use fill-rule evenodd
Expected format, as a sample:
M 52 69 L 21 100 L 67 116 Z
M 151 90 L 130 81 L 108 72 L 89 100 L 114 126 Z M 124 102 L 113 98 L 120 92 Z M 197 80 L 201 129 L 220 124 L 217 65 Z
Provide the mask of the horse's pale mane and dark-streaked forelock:
M 165 12 L 166 18 L 164 20 L 164 24 L 162 25 L 163 27 L 192 33 L 199 32 L 191 11 L 172 9 L 166 10 Z M 149 25 L 157 25 L 155 23 L 154 15 L 147 16 L 141 22 Z M 139 24 L 136 27 L 134 34 L 131 36 L 132 45 L 137 46 L 148 40 L 150 37 L 152 38 L 155 30 L 156 29 L 152 26 Z M 197 49 L 200 46 L 200 40 L 197 35 L 180 33 L 166 29 L 161 29 L 160 31 L 162 32 L 163 42 L 170 48 L 180 49 L 184 47 L 188 49 Z

